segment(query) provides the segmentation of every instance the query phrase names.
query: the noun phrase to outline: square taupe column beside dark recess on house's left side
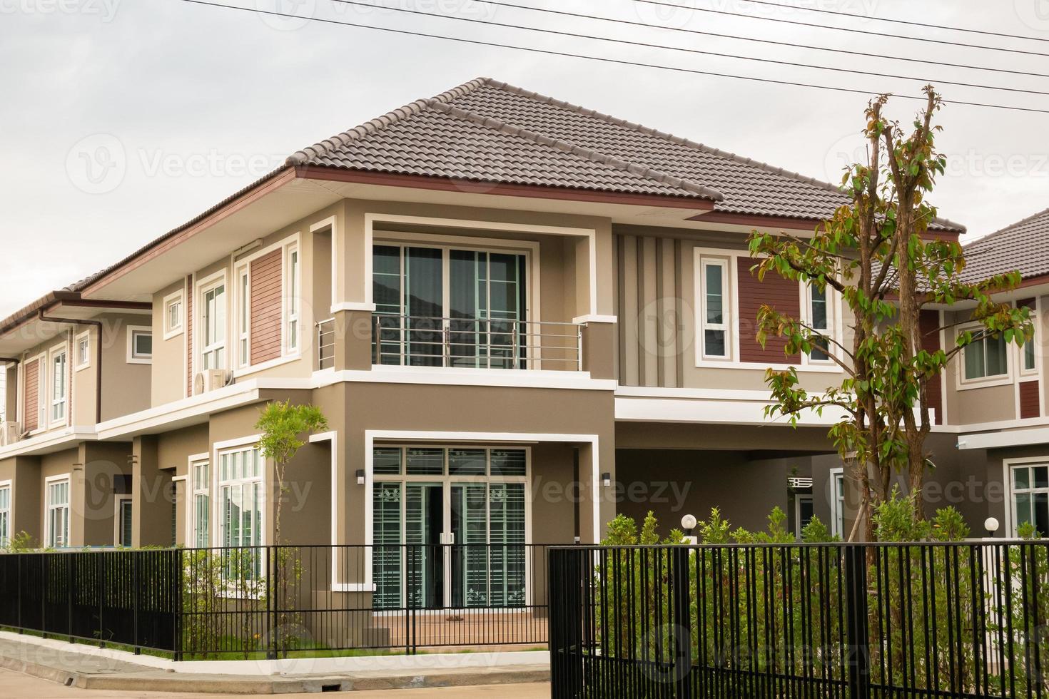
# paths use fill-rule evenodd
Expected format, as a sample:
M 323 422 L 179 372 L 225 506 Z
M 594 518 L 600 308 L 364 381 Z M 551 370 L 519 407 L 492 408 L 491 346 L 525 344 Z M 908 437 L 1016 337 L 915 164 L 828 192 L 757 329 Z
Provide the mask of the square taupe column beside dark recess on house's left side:
M 135 437 L 131 446 L 131 545 L 171 544 L 171 474 L 159 468 L 156 437 Z

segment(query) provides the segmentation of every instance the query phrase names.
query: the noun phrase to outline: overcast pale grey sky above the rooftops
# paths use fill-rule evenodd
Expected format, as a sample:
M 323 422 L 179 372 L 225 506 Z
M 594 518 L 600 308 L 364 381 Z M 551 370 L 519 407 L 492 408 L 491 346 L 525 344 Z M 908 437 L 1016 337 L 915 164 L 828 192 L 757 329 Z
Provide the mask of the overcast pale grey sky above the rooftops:
M 684 68 L 917 94 L 920 80 L 837 73 L 480 26 L 336 0 L 216 0 L 300 16 Z M 648 24 L 774 39 L 792 47 L 645 29 L 475 0 L 372 4 L 637 42 L 1049 92 L 1049 79 L 863 59 L 813 44 L 1049 74 L 1049 56 L 887 39 L 655 7 L 635 0 L 509 0 Z M 671 1 L 671 0 L 666 0 Z M 1046 0 L 774 0 L 1035 37 L 1021 41 L 746 0 L 692 7 L 1049 54 Z M 921 14 L 916 12 L 921 8 Z M 860 146 L 859 94 L 472 46 L 191 4 L 0 0 L 0 316 L 177 226 L 304 146 L 419 97 L 488 75 L 825 180 Z M 1049 95 L 939 83 L 947 100 L 1049 109 Z M 918 103 L 897 100 L 906 121 Z M 1049 205 L 1049 114 L 949 105 L 940 214 L 990 233 Z

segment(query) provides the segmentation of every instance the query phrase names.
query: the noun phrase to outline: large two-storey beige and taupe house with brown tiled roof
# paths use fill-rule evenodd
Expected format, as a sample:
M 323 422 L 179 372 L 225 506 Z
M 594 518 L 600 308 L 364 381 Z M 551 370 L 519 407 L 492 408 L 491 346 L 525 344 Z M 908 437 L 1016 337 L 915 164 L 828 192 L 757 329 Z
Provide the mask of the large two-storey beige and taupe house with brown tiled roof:
M 842 531 L 837 416 L 794 429 L 763 413 L 767 367 L 811 390 L 839 370 L 763 348 L 754 319 L 772 302 L 840 335 L 849 318 L 831 291 L 758 283 L 745 241 L 804 235 L 843 201 L 491 80 L 412 103 L 0 323 L 10 530 L 273 543 L 254 424 L 291 399 L 330 421 L 288 466 L 292 543 L 594 542 L 617 512 L 669 528 L 712 506 L 751 528 L 779 505 L 795 528 L 815 512 Z M 967 389 L 941 389 L 937 479 L 1001 485 L 982 452 L 956 449 L 967 422 L 998 419 Z

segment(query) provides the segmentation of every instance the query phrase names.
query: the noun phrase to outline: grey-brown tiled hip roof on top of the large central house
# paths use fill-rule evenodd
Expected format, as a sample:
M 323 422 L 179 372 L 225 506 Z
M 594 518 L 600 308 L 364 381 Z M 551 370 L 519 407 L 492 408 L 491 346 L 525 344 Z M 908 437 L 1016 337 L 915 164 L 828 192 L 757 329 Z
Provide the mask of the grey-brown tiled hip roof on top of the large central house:
M 715 212 L 813 221 L 848 202 L 833 184 L 487 78 L 394 110 L 288 161 L 700 196 L 713 199 Z

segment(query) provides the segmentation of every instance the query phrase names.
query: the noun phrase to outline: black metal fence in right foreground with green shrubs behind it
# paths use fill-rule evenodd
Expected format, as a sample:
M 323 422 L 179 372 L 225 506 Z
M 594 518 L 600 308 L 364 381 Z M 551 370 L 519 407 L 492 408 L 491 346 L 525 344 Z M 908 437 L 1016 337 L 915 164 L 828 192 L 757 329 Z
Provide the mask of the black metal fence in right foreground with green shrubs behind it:
M 550 550 L 553 696 L 1049 696 L 1049 543 Z

